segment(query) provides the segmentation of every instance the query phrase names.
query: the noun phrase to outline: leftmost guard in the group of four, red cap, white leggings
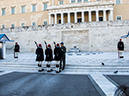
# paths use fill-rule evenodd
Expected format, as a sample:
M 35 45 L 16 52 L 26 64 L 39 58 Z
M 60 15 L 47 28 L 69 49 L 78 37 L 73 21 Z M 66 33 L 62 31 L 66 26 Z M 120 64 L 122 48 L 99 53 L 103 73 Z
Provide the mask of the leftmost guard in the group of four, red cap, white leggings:
M 38 71 L 42 72 L 44 69 L 42 69 L 42 61 L 44 60 L 44 55 L 43 55 L 43 48 L 42 45 L 39 44 L 38 48 L 36 49 L 36 61 L 38 61 Z

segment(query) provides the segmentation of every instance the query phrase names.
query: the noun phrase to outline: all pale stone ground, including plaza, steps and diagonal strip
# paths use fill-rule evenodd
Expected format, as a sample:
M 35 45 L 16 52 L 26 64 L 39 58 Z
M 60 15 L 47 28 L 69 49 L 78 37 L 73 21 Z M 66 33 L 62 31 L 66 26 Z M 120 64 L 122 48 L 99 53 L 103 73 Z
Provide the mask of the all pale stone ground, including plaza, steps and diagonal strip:
M 117 52 L 80 52 L 66 54 L 66 69 L 59 74 L 89 74 L 107 96 L 113 96 L 116 86 L 104 75 L 129 75 L 129 52 L 123 53 L 124 58 L 118 58 Z M 18 59 L 13 54 L 7 54 L 0 60 L 0 75 L 12 72 L 36 72 L 37 62 L 34 53 L 20 53 Z M 105 65 L 102 66 L 101 63 Z M 45 67 L 46 62 L 43 62 Z M 51 63 L 54 69 L 56 62 Z M 118 73 L 113 73 L 118 70 Z M 56 74 L 55 71 L 39 74 Z

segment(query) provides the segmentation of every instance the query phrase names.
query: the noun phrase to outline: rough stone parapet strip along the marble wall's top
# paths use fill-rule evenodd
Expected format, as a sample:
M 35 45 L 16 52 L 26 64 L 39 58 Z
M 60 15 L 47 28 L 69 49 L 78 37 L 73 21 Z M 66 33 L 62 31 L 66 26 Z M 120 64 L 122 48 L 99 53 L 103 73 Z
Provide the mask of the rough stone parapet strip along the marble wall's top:
M 86 29 L 95 27 L 116 27 L 116 26 L 129 26 L 129 20 L 121 21 L 102 21 L 102 22 L 83 22 L 83 23 L 66 23 L 66 24 L 51 24 L 51 25 L 38 25 L 38 26 L 25 26 L 14 28 L 1 28 L 0 33 L 6 32 L 31 32 L 31 31 L 44 31 L 51 29 Z

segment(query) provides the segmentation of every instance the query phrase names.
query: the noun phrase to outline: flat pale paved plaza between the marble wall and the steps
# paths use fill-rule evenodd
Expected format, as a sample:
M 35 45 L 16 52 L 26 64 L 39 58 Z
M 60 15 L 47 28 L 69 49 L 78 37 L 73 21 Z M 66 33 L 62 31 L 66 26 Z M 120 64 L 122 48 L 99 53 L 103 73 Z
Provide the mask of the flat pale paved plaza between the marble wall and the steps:
M 102 62 L 106 65 L 129 65 L 129 52 L 124 52 L 123 55 L 124 58 L 118 58 L 117 52 L 67 53 L 66 65 L 100 65 Z M 37 64 L 35 59 L 35 53 L 19 53 L 19 58 L 13 58 L 13 54 L 7 54 L 6 59 L 0 60 L 0 63 Z M 43 61 L 43 64 L 46 62 Z M 55 61 L 51 64 L 55 64 Z

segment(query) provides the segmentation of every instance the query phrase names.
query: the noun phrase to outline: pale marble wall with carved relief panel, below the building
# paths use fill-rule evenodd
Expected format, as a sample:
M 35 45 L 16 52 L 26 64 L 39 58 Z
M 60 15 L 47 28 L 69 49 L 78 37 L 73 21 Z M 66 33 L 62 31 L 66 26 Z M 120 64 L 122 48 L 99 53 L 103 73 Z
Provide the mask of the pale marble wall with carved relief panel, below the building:
M 14 29 L 0 29 L 0 34 L 6 34 L 21 46 L 21 52 L 35 52 L 37 43 L 45 49 L 44 40 L 52 45 L 53 41 L 63 41 L 67 51 L 77 46 L 81 51 L 117 51 L 117 43 L 121 36 L 129 31 L 129 20 L 84 22 L 71 24 L 55 24 L 47 26 L 26 26 Z M 129 51 L 129 38 L 122 39 L 125 51 Z M 13 50 L 14 43 L 7 42 L 8 50 Z

